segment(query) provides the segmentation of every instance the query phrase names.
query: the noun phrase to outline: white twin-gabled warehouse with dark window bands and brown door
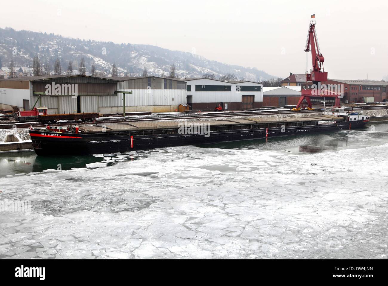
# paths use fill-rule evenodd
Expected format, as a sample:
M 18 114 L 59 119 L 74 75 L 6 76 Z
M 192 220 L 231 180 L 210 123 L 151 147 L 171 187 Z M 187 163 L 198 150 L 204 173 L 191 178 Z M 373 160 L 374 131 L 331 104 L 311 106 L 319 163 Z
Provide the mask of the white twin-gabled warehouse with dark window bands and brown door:
M 187 104 L 192 110 L 214 110 L 223 103 L 225 110 L 261 107 L 263 85 L 251 81 L 219 81 L 216 79 L 182 78 L 187 82 Z

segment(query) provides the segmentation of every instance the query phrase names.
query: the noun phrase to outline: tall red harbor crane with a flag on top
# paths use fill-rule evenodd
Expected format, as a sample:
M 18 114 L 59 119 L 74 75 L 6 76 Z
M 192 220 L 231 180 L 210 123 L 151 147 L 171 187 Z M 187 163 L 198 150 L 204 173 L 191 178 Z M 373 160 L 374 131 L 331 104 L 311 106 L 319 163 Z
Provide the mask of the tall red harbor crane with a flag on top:
M 310 51 L 313 68 L 310 70 L 310 73 L 306 71 L 306 87 L 307 82 L 312 82 L 312 86 L 308 87 L 307 89 L 301 89 L 301 97 L 298 101 L 298 104 L 296 105 L 296 108 L 293 110 L 300 110 L 305 108 L 311 110 L 312 104 L 310 97 L 334 97 L 334 106 L 340 107 L 339 93 L 330 91 L 326 88 L 326 86 L 322 86 L 321 89 L 320 82 L 327 81 L 327 72 L 325 72 L 323 68 L 325 58 L 319 49 L 317 33 L 315 32 L 315 21 L 310 21 L 310 26 L 308 27 L 305 52 L 308 53 Z M 307 105 L 303 105 L 303 100 L 307 101 Z

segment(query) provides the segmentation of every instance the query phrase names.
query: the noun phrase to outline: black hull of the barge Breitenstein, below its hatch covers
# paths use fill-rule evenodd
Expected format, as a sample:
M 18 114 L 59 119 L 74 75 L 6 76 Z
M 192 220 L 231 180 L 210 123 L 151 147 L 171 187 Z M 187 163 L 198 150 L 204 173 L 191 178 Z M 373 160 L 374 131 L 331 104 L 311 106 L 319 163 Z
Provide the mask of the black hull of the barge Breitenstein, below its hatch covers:
M 337 124 L 293 126 L 287 128 L 255 128 L 228 130 L 205 134 L 158 134 L 135 135 L 128 132 L 117 133 L 60 133 L 30 130 L 35 153 L 42 156 L 110 154 L 160 147 L 197 145 L 214 142 L 256 139 L 284 135 L 327 132 L 341 129 L 359 128 L 369 120 L 344 121 Z

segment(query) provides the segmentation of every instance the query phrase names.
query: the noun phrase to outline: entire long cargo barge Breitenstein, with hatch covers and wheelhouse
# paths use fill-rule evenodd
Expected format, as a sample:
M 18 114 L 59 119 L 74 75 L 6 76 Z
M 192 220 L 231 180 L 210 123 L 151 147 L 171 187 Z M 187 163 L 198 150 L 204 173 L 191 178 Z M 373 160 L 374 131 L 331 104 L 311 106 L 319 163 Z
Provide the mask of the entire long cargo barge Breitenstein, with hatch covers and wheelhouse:
M 321 116 L 293 118 L 136 121 L 66 129 L 47 126 L 40 130 L 30 127 L 29 135 L 38 155 L 86 155 L 353 129 L 368 122 L 364 114 L 332 108 Z

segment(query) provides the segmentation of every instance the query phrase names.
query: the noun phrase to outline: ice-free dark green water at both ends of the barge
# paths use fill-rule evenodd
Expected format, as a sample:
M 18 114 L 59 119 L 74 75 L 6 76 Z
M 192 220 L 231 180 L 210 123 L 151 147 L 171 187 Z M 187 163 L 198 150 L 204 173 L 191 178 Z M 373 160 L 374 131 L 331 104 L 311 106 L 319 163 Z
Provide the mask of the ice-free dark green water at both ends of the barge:
M 371 130 L 374 130 L 372 132 Z M 369 123 L 357 130 L 341 130 L 330 133 L 317 133 L 272 137 L 268 139 L 242 140 L 203 144 L 203 148 L 258 149 L 286 151 L 294 154 L 319 153 L 328 150 L 356 149 L 388 143 L 388 122 Z M 152 160 L 152 156 L 149 156 Z M 33 151 L 0 153 L 0 177 L 20 173 L 42 172 L 57 169 L 58 162 L 62 170 L 85 167 L 86 164 L 102 161 L 92 155 L 86 156 L 36 156 Z

